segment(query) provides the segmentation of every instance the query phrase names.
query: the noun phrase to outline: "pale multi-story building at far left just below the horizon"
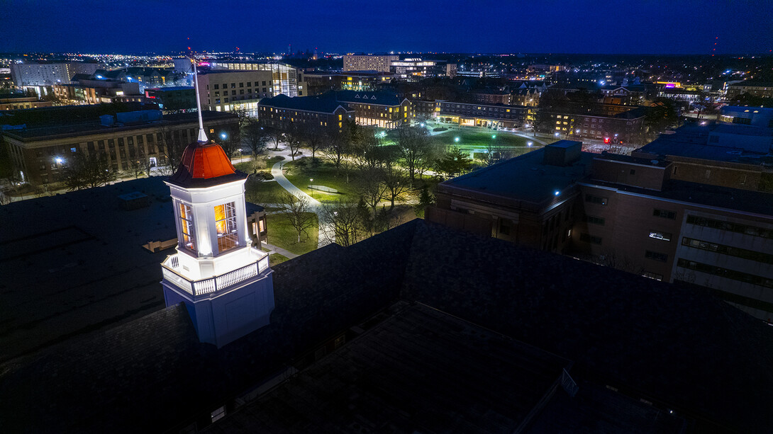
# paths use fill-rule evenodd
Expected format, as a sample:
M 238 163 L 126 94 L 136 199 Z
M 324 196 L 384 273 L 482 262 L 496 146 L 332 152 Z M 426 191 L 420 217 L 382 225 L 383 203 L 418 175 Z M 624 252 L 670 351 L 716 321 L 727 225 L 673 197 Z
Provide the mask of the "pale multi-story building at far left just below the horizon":
M 99 63 L 12 63 L 11 77 L 17 87 L 53 86 L 71 83 L 75 74 L 93 74 Z

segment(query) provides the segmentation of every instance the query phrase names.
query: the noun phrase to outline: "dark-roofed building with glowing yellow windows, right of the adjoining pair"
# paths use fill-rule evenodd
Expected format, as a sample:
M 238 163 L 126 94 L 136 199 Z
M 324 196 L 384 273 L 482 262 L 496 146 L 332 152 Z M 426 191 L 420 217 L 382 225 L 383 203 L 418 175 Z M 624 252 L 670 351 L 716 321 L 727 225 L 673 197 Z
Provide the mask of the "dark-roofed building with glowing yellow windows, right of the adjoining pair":
M 405 97 L 397 97 L 395 93 L 339 90 L 334 94 L 335 100 L 346 103 L 354 110 L 358 125 L 397 128 L 410 125 L 414 119 L 410 101 Z

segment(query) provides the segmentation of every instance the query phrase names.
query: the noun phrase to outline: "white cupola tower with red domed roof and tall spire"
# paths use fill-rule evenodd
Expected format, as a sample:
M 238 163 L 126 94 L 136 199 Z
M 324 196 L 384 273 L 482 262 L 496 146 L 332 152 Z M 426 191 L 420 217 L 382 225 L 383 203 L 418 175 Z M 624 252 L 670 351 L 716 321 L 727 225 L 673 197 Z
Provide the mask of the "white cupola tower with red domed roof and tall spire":
M 199 341 L 218 348 L 269 323 L 274 285 L 268 256 L 250 246 L 244 203 L 247 175 L 233 168 L 204 132 L 165 181 L 172 193 L 177 253 L 162 263 L 167 306 L 185 303 Z

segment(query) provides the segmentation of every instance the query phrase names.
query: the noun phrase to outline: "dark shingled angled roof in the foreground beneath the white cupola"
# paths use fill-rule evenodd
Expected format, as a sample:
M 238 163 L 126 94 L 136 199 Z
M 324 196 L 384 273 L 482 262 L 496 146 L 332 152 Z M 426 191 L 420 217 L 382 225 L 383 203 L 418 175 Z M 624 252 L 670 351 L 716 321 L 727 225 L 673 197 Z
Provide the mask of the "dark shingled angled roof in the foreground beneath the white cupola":
M 577 376 L 687 415 L 696 431 L 773 425 L 773 331 L 705 293 L 416 220 L 274 266 L 274 293 L 271 324 L 220 350 L 175 306 L 0 365 L 0 420 L 12 432 L 182 429 L 404 300 L 573 360 Z M 409 367 L 422 357 L 412 351 Z

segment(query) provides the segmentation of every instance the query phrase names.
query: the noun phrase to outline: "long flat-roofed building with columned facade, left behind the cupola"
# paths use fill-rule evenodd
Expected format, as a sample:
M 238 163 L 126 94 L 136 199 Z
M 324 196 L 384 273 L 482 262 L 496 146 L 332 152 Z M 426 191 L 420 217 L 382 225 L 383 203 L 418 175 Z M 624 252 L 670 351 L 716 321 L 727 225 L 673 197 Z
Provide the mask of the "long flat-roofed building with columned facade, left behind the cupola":
M 89 107 L 50 107 L 46 119 L 62 119 L 57 124 L 25 122 L 2 131 L 19 178 L 33 184 L 60 181 L 71 154 L 104 153 L 116 171 L 130 168 L 132 161 L 152 165 L 168 164 L 164 143 L 184 146 L 196 141 L 198 120 L 195 113 L 162 117 L 158 110 L 105 114 L 99 119 L 80 119 Z M 203 112 L 210 135 L 233 134 L 238 119 L 233 114 Z M 76 120 L 73 120 L 76 119 Z

